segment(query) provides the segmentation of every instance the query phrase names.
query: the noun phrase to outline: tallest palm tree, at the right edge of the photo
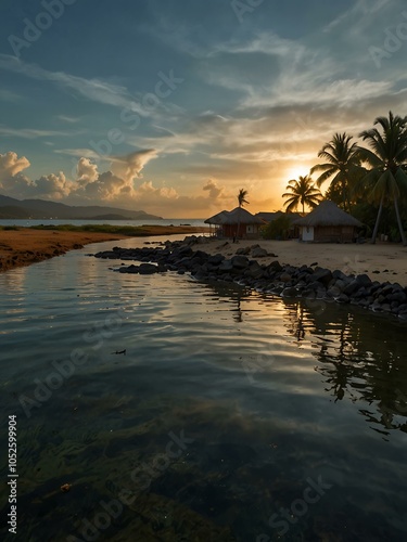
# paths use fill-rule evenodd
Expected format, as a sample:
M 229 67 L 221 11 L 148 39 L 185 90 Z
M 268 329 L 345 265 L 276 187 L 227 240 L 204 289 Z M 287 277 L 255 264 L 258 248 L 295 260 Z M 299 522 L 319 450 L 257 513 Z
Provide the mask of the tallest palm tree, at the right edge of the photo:
M 359 137 L 367 141 L 372 150 L 359 147 L 361 158 L 371 166 L 363 182 L 369 189 L 370 199 L 379 203 L 378 216 L 371 242 L 376 243 L 383 205 L 393 201 L 398 230 L 403 245 L 407 245 L 398 201 L 403 191 L 407 191 L 407 117 L 394 116 L 378 117 L 374 126 L 380 129 L 363 131 Z

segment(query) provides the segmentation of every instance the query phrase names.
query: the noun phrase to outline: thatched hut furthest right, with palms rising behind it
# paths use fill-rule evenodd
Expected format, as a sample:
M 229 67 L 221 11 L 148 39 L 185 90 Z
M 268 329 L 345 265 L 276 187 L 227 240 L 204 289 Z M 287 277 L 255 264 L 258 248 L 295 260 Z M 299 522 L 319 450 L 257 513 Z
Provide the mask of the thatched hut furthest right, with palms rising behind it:
M 333 202 L 321 202 L 306 217 L 294 222 L 302 230 L 303 241 L 349 243 L 355 238 L 355 229 L 363 224 L 340 209 Z

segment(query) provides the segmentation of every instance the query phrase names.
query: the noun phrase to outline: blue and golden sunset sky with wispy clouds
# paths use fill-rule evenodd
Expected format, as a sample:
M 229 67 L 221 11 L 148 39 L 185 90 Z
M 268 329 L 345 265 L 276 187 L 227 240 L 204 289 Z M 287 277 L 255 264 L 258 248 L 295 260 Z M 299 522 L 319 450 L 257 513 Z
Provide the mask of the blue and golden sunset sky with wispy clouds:
M 406 53 L 405 0 L 2 0 L 0 194 L 277 210 L 335 132 L 407 114 Z

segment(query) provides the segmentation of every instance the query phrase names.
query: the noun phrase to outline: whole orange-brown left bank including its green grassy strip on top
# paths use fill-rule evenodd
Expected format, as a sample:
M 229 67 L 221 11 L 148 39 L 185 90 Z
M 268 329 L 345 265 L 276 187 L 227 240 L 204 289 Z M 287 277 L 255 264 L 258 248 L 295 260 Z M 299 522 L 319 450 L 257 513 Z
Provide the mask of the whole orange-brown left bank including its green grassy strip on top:
M 190 225 L 62 224 L 29 228 L 2 225 L 0 227 L 0 272 L 61 256 L 90 243 L 118 241 L 126 237 L 190 235 L 208 231 L 208 228 Z

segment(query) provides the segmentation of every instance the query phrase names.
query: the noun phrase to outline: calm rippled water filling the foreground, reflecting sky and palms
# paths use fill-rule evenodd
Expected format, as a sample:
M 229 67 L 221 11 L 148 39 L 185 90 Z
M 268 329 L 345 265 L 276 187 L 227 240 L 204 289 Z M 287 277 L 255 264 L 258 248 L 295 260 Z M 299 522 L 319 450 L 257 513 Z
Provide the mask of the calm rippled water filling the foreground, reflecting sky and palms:
M 2 539 L 407 540 L 406 325 L 86 256 L 114 244 L 0 274 Z

